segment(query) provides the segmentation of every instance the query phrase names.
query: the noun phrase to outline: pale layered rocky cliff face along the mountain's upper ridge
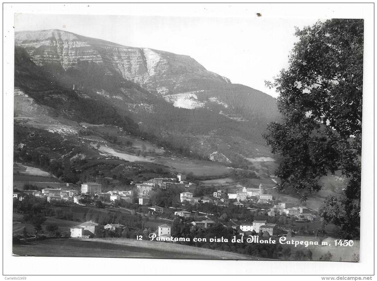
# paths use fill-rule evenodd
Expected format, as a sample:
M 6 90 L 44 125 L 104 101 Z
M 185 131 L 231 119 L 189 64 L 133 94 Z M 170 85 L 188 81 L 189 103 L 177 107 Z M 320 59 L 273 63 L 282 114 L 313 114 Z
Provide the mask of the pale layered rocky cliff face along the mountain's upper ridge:
M 103 63 L 109 72 L 137 82 L 160 94 L 179 94 L 192 79 L 229 79 L 207 71 L 189 56 L 150 48 L 126 47 L 58 29 L 15 33 L 15 45 L 23 47 L 37 65 L 59 63 L 64 69 L 78 60 Z M 190 90 L 198 90 L 191 86 Z

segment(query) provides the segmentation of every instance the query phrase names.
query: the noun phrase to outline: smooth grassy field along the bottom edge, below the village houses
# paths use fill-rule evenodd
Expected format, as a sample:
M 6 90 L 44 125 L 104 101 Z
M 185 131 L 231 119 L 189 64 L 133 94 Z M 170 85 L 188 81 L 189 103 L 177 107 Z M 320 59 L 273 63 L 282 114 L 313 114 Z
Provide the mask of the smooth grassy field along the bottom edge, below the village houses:
M 123 257 L 266 260 L 232 252 L 201 249 L 171 242 L 135 239 L 49 239 L 13 245 L 13 254 L 41 257 Z

